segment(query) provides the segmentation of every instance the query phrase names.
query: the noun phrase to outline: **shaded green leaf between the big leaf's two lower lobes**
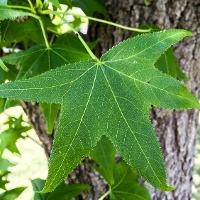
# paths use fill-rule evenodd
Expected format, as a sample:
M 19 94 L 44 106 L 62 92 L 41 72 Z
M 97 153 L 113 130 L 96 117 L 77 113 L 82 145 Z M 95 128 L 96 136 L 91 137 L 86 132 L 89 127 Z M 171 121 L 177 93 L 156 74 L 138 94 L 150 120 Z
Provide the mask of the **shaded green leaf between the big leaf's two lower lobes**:
M 115 149 L 112 143 L 103 136 L 91 152 L 97 162 L 95 167 L 109 185 L 110 199 L 150 200 L 148 190 L 138 182 L 138 175 L 124 161 L 115 160 Z

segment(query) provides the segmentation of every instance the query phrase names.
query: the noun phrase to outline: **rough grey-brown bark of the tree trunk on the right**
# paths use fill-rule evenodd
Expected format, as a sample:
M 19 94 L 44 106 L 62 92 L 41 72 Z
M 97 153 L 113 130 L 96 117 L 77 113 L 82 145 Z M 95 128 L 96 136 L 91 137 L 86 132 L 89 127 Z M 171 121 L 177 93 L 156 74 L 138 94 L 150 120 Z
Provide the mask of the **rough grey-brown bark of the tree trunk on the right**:
M 127 26 L 156 24 L 160 28 L 184 28 L 193 36 L 175 48 L 177 58 L 189 77 L 187 85 L 200 96 L 200 0 L 152 0 L 146 6 L 144 0 L 107 0 L 111 21 Z M 96 49 L 99 55 L 132 33 L 115 27 L 95 24 L 90 38 L 99 38 Z M 165 156 L 169 183 L 176 186 L 172 192 L 159 192 L 150 188 L 153 199 L 191 199 L 192 172 L 198 111 L 153 110 L 156 127 Z

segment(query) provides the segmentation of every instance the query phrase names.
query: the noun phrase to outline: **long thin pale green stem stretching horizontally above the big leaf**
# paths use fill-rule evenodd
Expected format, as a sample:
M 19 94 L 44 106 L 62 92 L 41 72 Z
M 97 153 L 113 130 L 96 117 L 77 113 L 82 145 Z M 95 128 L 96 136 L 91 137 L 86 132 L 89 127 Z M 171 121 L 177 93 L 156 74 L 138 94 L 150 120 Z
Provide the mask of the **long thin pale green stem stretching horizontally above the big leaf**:
M 63 12 L 57 12 L 57 11 L 51 11 L 51 10 L 43 10 L 40 11 L 41 14 L 54 14 L 54 15 L 60 15 L 60 14 L 65 14 Z M 78 14 L 74 14 L 74 13 L 66 13 L 65 15 L 72 15 L 72 16 L 76 16 L 76 17 L 82 17 L 82 18 L 86 18 L 88 20 L 92 20 L 92 21 L 96 21 L 96 22 L 100 22 L 100 23 L 104 23 L 104 24 L 108 24 L 111 26 L 116 26 L 118 28 L 122 28 L 125 30 L 129 30 L 129 31 L 134 31 L 134 32 L 140 32 L 140 33 L 148 33 L 151 31 L 151 29 L 139 29 L 139 28 L 132 28 L 132 27 L 128 27 L 128 26 L 124 26 L 121 24 L 117 24 L 111 21 L 107 21 L 104 19 L 99 19 L 99 18 L 95 18 L 95 17 L 90 17 L 90 16 L 86 16 L 86 15 L 78 15 Z

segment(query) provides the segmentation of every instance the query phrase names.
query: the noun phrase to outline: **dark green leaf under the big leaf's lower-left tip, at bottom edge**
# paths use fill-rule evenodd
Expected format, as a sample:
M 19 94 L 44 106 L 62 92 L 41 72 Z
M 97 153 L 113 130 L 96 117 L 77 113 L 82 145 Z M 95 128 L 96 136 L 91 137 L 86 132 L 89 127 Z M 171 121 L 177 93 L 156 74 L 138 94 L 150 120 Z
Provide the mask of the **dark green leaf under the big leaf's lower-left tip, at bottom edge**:
M 42 194 L 38 191 L 44 187 L 45 180 L 35 179 L 32 181 L 35 191 L 34 200 L 71 200 L 81 192 L 88 190 L 89 185 L 85 184 L 60 184 L 53 192 Z

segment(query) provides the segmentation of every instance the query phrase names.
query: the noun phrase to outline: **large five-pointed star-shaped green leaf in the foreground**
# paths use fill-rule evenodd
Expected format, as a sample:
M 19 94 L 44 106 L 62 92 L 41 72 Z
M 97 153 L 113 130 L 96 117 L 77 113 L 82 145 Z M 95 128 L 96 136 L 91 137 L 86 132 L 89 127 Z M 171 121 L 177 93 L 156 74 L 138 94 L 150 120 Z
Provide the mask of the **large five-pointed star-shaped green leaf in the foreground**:
M 185 30 L 139 35 L 112 48 L 99 62 L 69 64 L 0 86 L 1 97 L 61 104 L 43 191 L 55 189 L 102 135 L 153 186 L 172 189 L 166 183 L 149 110 L 151 105 L 170 109 L 200 105 L 184 85 L 154 64 L 172 44 L 189 35 Z

